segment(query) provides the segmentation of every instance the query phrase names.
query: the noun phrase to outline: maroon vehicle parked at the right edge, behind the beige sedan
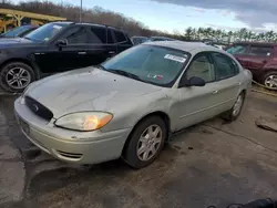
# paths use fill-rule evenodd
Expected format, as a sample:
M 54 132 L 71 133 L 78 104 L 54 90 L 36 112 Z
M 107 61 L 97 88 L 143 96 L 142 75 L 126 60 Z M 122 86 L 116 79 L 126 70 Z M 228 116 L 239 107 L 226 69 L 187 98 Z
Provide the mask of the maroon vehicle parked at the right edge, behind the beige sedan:
M 254 80 L 265 86 L 277 90 L 277 44 L 240 42 L 226 50 L 246 69 Z

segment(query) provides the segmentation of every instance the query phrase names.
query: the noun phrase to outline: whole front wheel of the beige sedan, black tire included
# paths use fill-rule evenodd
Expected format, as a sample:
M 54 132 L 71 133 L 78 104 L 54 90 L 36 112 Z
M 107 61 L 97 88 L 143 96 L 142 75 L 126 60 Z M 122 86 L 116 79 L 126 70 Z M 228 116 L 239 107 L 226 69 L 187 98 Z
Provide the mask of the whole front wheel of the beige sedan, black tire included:
M 144 138 L 143 142 L 141 141 L 141 136 L 147 137 L 148 132 L 145 131 L 150 131 L 151 128 L 153 129 L 153 132 L 158 132 L 157 136 L 155 137 L 156 144 L 154 143 L 154 137 L 152 139 Z M 160 116 L 151 116 L 143 119 L 130 135 L 122 155 L 123 159 L 133 168 L 138 169 L 146 167 L 158 157 L 161 150 L 163 149 L 166 137 L 167 127 L 165 122 Z M 157 143 L 158 141 L 161 142 Z M 148 157 L 146 158 L 146 148 L 150 149 L 151 147 L 155 150 L 155 153 L 153 153 L 153 150 L 150 150 Z M 145 152 L 138 154 L 138 149 L 145 149 Z

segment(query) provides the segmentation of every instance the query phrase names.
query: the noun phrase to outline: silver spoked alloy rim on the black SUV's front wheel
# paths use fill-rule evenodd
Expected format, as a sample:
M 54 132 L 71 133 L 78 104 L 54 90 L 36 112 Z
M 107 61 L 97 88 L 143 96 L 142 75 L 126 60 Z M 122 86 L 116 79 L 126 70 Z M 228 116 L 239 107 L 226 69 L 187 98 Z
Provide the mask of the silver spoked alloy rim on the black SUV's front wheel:
M 31 82 L 31 74 L 23 67 L 13 66 L 6 74 L 6 83 L 12 87 L 22 90 Z

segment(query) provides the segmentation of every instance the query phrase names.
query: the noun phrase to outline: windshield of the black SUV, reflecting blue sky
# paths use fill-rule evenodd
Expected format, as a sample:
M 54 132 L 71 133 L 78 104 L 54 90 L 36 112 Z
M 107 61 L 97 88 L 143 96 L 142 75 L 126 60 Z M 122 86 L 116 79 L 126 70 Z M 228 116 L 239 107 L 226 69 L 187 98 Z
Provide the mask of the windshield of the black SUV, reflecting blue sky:
M 30 32 L 24 38 L 33 40 L 33 41 L 48 42 L 52 38 L 54 38 L 61 31 L 61 29 L 63 29 L 65 25 L 68 25 L 68 24 L 65 24 L 65 23 L 48 23 L 48 24 L 44 24 L 41 28 Z

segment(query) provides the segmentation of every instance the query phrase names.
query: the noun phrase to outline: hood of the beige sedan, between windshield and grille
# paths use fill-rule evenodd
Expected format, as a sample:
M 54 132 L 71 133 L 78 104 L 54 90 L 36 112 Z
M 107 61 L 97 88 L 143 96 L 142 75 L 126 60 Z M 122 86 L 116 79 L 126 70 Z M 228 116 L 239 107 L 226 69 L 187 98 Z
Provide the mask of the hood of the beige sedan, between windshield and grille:
M 48 107 L 58 118 L 80 111 L 114 113 L 117 105 L 135 102 L 162 87 L 96 67 L 74 70 L 33 83 L 24 95 Z

